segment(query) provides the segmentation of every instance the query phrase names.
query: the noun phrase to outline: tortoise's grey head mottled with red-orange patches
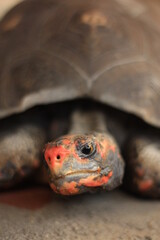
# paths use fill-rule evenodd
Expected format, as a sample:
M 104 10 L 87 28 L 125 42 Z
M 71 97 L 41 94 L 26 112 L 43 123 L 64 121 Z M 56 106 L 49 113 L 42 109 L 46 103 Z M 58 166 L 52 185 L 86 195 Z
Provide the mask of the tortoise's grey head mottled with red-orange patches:
M 112 190 L 122 182 L 124 162 L 109 134 L 66 135 L 48 143 L 44 155 L 56 193 Z

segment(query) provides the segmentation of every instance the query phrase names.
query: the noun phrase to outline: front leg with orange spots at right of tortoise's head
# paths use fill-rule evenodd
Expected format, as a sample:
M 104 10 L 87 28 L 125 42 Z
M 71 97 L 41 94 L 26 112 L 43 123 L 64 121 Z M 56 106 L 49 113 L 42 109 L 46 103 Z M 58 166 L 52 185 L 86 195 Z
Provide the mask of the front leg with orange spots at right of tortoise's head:
M 136 135 L 125 146 L 125 187 L 140 196 L 160 197 L 160 138 Z

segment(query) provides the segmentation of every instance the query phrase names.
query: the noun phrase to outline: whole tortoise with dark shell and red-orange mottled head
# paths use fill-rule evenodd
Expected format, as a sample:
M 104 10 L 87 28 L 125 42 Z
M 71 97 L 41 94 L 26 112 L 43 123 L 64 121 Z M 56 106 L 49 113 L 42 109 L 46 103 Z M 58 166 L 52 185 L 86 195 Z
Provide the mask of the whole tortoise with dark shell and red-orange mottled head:
M 2 19 L 1 189 L 46 165 L 58 194 L 112 190 L 125 170 L 129 191 L 160 196 L 155 6 L 28 0 Z

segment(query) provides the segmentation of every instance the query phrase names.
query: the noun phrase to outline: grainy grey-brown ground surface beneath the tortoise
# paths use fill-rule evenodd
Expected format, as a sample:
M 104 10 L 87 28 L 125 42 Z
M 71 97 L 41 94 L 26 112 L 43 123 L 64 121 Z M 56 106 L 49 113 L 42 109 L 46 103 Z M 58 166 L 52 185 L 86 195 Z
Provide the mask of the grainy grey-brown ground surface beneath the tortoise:
M 159 201 L 136 199 L 121 191 L 71 198 L 60 198 L 50 189 L 43 191 L 51 198 L 47 197 L 50 200 L 34 210 L 23 204 L 8 205 L 14 205 L 15 192 L 8 196 L 13 198 L 12 203 L 4 203 L 8 193 L 1 194 L 0 240 L 160 239 Z M 42 194 L 36 189 L 31 192 L 39 202 Z M 17 194 L 19 198 L 21 193 Z

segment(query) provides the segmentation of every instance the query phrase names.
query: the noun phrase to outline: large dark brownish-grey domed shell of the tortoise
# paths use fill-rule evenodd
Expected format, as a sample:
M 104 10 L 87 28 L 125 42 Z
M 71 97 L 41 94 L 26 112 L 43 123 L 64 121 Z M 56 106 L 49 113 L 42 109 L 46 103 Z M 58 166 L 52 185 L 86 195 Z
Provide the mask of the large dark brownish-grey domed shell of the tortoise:
M 159 9 L 158 0 L 16 6 L 0 22 L 0 117 L 88 96 L 160 126 Z

